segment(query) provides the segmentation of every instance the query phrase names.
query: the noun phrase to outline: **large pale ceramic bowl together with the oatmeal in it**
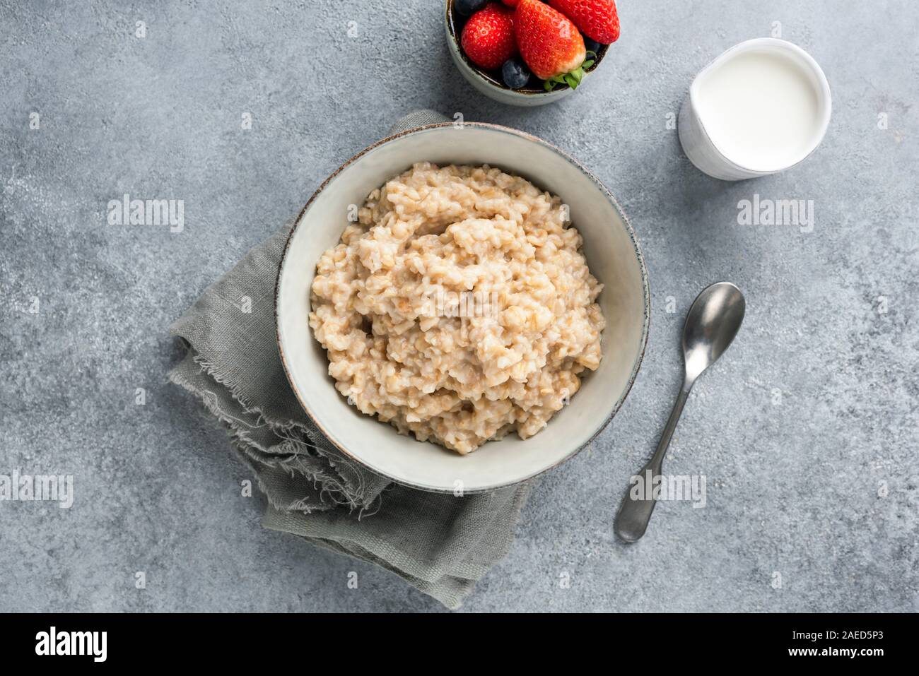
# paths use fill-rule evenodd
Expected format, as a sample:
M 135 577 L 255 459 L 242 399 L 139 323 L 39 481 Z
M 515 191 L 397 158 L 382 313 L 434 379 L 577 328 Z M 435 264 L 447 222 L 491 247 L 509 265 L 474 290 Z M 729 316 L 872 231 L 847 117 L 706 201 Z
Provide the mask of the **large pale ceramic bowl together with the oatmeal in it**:
M 349 160 L 278 272 L 304 411 L 347 456 L 425 490 L 492 490 L 573 456 L 628 394 L 648 316 L 616 200 L 550 144 L 489 124 Z

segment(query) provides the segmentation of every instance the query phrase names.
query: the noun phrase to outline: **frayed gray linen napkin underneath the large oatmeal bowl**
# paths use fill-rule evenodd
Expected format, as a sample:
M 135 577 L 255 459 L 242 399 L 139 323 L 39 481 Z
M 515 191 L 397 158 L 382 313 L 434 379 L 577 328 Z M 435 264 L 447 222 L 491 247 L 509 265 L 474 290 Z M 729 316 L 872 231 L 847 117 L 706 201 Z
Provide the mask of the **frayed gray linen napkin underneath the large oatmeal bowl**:
M 391 132 L 445 120 L 419 110 Z M 289 389 L 275 339 L 289 229 L 246 254 L 171 327 L 187 354 L 169 379 L 226 426 L 267 495 L 266 528 L 375 563 L 458 608 L 505 557 L 531 482 L 463 497 L 415 490 L 358 466 L 319 433 Z

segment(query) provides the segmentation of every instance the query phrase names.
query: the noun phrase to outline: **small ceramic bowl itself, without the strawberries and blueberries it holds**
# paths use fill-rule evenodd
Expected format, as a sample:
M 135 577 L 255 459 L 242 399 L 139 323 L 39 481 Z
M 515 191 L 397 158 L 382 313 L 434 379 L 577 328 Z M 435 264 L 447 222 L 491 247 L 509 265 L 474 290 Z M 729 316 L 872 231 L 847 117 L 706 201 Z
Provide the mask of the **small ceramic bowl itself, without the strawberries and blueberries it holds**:
M 560 84 L 552 91 L 547 92 L 542 86 L 542 81 L 537 80 L 535 77 L 523 89 L 511 89 L 501 79 L 501 73 L 483 71 L 479 66 L 471 62 L 462 51 L 462 47 L 459 46 L 459 36 L 462 35 L 462 27 L 466 22 L 466 17 L 461 17 L 457 12 L 453 11 L 453 0 L 447 0 L 447 11 L 444 19 L 444 25 L 447 28 L 447 46 L 453 62 L 466 81 L 485 96 L 510 106 L 531 107 L 543 106 L 547 103 L 558 101 L 565 96 L 569 96 L 574 91 L 567 84 Z M 584 87 L 584 84 L 590 79 L 590 73 L 599 68 L 600 62 L 603 61 L 603 57 L 607 54 L 608 47 L 609 45 L 600 45 L 594 65 L 585 71 L 584 80 L 578 85 L 578 89 Z

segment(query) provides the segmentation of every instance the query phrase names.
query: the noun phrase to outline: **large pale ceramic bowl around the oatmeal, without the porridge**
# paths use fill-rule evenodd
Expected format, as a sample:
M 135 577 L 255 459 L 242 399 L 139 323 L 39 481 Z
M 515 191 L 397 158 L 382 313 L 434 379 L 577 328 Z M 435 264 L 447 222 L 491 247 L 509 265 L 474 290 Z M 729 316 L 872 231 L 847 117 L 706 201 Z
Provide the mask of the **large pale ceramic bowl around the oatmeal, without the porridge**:
M 340 239 L 349 205 L 415 162 L 488 163 L 562 197 L 584 237 L 584 255 L 603 284 L 603 359 L 571 403 L 539 434 L 508 434 L 467 456 L 398 434 L 349 406 L 328 376 L 328 358 L 308 318 L 316 263 Z M 648 336 L 648 276 L 629 221 L 607 189 L 559 149 L 492 124 L 446 122 L 404 131 L 343 164 L 310 198 L 290 232 L 278 270 L 278 348 L 290 387 L 323 434 L 358 463 L 399 483 L 434 491 L 493 490 L 529 479 L 573 456 L 618 411 L 641 365 Z M 457 482 L 461 483 L 457 483 Z

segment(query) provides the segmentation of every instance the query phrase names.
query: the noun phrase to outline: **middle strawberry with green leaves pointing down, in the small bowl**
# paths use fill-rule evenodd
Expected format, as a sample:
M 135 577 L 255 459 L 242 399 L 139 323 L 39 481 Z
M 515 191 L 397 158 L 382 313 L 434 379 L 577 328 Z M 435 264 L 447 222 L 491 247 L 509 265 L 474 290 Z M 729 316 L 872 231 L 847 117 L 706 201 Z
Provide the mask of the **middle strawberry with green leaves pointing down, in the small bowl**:
M 584 38 L 571 19 L 539 0 L 520 0 L 514 12 L 520 56 L 551 90 L 556 84 L 572 89 L 581 83 L 587 52 Z

